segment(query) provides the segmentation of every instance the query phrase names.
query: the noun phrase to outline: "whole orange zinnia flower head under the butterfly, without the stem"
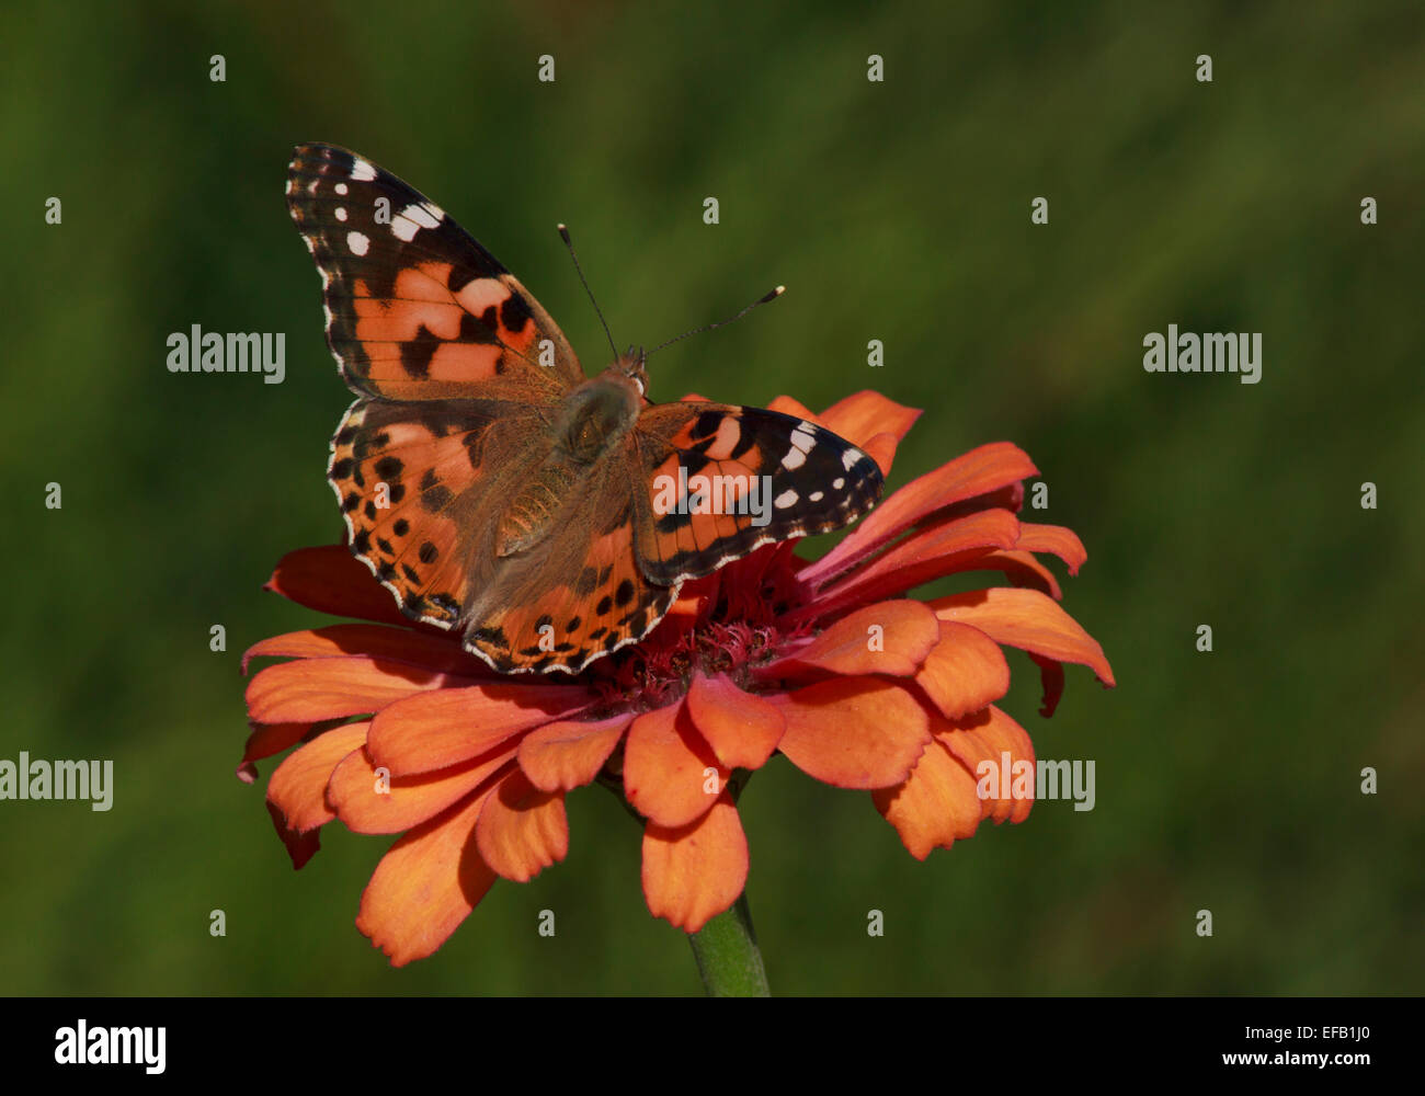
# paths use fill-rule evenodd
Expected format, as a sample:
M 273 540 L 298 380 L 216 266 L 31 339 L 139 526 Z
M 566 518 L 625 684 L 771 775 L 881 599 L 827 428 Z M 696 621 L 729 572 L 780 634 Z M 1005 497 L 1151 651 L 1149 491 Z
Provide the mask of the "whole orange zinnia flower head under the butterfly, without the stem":
M 874 392 L 819 422 L 889 472 L 919 416 Z M 1067 529 L 1020 522 L 1017 448 L 986 445 L 888 497 L 815 563 L 768 544 L 687 583 L 641 643 L 566 678 L 502 677 L 457 634 L 415 626 L 349 552 L 302 549 L 268 589 L 311 609 L 376 621 L 258 643 L 289 658 L 248 686 L 252 734 L 239 775 L 301 744 L 272 774 L 268 808 L 295 867 L 339 818 L 402 834 L 361 902 L 358 928 L 402 965 L 436 951 L 497 877 L 524 882 L 569 847 L 564 794 L 596 780 L 644 818 L 648 909 L 697 932 L 747 879 L 738 770 L 784 754 L 811 777 L 871 791 L 918 858 L 970 837 L 980 820 L 1022 821 L 1029 800 L 982 801 L 982 760 L 1033 762 L 1025 730 L 995 707 L 1009 688 L 1000 646 L 1040 667 L 1043 714 L 1063 664 L 1113 671 L 1057 604 L 1035 557 L 1070 573 L 1086 553 Z M 959 572 L 1012 586 L 916 601 L 908 590 Z M 355 720 L 355 721 L 352 721 Z

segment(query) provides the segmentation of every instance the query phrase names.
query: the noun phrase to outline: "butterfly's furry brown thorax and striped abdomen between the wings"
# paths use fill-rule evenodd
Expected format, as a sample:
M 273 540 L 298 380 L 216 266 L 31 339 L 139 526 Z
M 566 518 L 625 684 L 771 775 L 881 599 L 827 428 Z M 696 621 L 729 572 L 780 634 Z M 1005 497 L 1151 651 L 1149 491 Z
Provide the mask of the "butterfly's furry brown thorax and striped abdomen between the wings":
M 533 547 L 553 530 L 564 503 L 583 493 L 581 482 L 603 473 L 598 465 L 618 450 L 641 403 L 641 391 L 624 372 L 623 358 L 570 391 L 550 426 L 547 456 L 500 516 L 497 556 Z

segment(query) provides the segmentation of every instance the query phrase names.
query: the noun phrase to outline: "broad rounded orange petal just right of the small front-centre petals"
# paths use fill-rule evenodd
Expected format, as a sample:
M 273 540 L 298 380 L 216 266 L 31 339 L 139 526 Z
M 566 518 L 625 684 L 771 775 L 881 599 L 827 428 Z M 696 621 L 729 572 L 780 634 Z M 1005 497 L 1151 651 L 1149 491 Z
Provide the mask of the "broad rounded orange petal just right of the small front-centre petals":
M 802 772 L 838 788 L 888 788 L 905 780 L 931 741 L 921 703 L 893 681 L 838 677 L 779 696 L 778 744 Z

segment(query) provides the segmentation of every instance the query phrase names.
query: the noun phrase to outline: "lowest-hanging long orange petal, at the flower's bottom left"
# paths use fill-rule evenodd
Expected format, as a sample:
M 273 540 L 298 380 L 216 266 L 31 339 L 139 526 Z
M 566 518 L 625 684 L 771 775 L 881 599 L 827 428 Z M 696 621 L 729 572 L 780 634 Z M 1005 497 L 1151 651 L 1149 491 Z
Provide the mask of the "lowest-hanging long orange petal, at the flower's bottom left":
M 361 896 L 356 928 L 392 966 L 425 959 L 446 942 L 497 878 L 472 831 L 482 795 L 418 825 L 390 847 Z

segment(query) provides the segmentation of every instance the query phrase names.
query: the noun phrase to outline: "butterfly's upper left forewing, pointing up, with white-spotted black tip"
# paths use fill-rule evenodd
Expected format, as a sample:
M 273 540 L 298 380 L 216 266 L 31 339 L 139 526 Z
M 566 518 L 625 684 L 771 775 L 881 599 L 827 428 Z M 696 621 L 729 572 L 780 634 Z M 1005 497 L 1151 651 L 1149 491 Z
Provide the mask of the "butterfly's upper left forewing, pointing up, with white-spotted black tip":
M 322 275 L 326 341 L 352 391 L 557 398 L 584 379 L 519 279 L 389 171 L 335 145 L 298 145 L 286 204 Z

